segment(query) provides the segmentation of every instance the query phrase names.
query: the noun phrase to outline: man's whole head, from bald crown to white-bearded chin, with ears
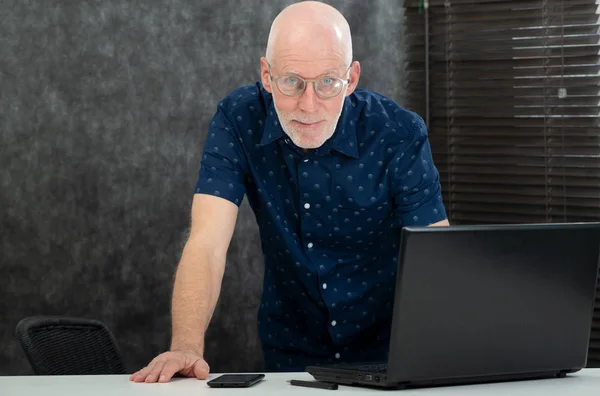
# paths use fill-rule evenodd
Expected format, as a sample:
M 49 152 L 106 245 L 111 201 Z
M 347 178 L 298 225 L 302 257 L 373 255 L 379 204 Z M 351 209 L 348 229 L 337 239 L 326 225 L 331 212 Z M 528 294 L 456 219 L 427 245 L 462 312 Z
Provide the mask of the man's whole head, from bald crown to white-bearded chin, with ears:
M 271 25 L 260 76 L 285 134 L 305 150 L 320 147 L 333 136 L 345 98 L 360 76 L 360 63 L 352 60 L 348 22 L 318 1 L 285 8 Z M 307 80 L 313 82 L 304 84 Z M 290 86 L 298 90 L 292 92 Z M 334 91 L 332 96 L 323 94 L 327 88 Z

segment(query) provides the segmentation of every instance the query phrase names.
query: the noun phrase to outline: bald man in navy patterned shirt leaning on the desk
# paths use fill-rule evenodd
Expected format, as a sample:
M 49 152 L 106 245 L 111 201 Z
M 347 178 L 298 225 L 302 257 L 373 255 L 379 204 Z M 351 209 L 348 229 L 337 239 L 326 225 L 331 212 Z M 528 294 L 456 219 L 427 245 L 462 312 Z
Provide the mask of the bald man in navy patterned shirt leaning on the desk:
M 385 359 L 399 230 L 448 224 L 422 119 L 357 89 L 337 10 L 283 10 L 260 65 L 260 82 L 217 106 L 175 279 L 172 347 L 133 381 L 207 378 L 204 334 L 244 195 L 265 256 L 267 371 Z

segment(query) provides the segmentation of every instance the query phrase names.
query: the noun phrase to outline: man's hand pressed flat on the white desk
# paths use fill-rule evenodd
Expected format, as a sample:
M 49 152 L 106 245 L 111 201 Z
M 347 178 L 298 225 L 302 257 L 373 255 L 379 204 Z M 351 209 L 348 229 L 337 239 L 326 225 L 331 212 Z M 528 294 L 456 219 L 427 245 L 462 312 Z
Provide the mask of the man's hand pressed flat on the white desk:
M 210 368 L 204 358 L 192 351 L 169 351 L 152 359 L 143 369 L 133 373 L 129 380 L 133 382 L 169 382 L 180 373 L 184 377 L 207 379 Z

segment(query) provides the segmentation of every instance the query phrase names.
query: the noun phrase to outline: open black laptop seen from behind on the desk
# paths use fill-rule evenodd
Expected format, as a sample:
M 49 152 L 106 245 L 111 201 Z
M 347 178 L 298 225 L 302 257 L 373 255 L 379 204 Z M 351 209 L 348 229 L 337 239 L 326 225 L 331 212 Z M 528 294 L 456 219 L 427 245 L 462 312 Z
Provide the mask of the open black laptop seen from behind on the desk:
M 600 223 L 405 227 L 387 362 L 316 380 L 412 388 L 565 377 L 586 366 Z

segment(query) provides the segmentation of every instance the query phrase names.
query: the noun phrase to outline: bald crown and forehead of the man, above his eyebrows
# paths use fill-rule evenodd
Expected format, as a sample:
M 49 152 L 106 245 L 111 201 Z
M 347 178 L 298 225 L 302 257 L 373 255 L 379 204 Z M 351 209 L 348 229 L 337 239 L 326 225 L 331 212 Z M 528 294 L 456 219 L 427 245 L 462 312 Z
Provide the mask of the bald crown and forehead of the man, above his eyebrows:
M 267 43 L 270 64 L 287 57 L 339 58 L 352 62 L 352 37 L 344 16 L 318 1 L 302 1 L 285 8 L 273 21 Z

